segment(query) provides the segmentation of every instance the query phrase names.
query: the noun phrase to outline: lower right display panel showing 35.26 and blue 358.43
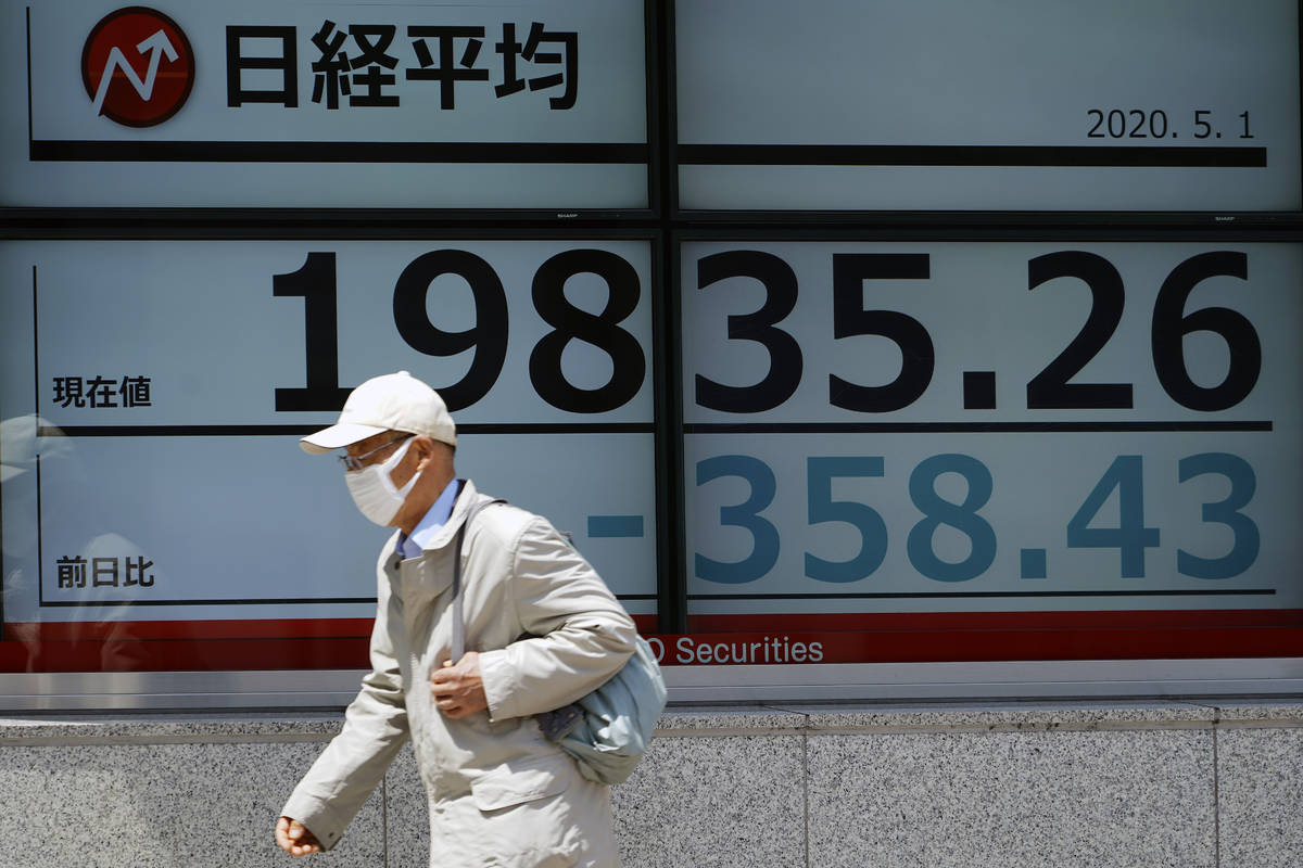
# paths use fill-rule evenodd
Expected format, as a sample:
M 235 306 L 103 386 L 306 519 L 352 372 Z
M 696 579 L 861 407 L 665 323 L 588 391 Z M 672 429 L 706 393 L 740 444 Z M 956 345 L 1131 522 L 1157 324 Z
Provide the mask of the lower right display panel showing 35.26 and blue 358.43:
M 1296 645 L 1298 245 L 691 241 L 680 281 L 696 630 Z

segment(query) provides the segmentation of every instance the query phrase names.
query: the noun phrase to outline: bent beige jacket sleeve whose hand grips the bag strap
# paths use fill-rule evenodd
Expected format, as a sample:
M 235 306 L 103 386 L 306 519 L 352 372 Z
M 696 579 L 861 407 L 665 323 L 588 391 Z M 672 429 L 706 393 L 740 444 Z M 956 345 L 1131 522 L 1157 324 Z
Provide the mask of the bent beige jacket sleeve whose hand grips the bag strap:
M 513 547 L 508 592 L 533 638 L 480 655 L 495 721 L 567 705 L 633 653 L 637 630 L 624 606 L 543 518 L 534 517 Z

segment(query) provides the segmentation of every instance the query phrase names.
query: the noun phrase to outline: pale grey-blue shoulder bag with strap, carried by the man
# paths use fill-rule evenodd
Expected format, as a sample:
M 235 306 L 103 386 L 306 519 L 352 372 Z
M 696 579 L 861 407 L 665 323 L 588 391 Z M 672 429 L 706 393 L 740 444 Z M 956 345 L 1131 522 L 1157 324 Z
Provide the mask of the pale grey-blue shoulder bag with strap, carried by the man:
M 461 544 L 466 526 L 490 504 L 473 506 L 457 528 L 452 560 L 452 660 L 465 653 L 465 622 L 461 609 Z M 657 720 L 665 708 L 665 679 L 652 645 L 637 638 L 633 656 L 601 687 L 562 708 L 536 714 L 538 729 L 549 740 L 575 757 L 580 774 L 598 783 L 623 783 L 646 752 Z

